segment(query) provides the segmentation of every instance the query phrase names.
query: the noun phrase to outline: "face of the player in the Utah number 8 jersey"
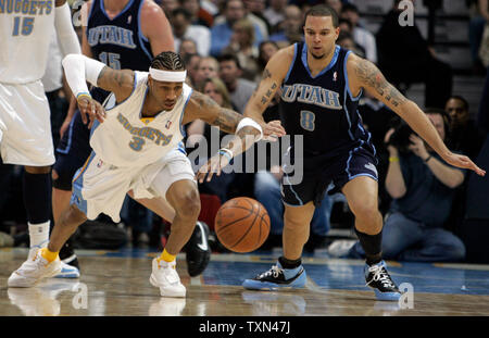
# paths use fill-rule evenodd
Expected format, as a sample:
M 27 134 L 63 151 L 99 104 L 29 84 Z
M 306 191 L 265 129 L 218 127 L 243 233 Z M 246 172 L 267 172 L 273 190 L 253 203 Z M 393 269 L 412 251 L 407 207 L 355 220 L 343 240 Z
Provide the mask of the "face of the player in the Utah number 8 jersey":
M 331 16 L 309 15 L 305 18 L 305 43 L 314 59 L 325 59 L 333 52 L 338 34 L 339 27 L 333 26 Z

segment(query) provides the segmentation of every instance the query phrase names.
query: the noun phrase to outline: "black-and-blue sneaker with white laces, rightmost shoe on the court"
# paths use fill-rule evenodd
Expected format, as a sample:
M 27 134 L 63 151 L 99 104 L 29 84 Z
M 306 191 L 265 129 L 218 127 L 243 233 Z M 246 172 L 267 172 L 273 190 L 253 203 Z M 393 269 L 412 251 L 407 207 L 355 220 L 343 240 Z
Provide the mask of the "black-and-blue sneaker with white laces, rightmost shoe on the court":
M 378 300 L 398 301 L 402 293 L 389 276 L 384 261 L 374 265 L 365 264 L 366 286 L 374 289 Z

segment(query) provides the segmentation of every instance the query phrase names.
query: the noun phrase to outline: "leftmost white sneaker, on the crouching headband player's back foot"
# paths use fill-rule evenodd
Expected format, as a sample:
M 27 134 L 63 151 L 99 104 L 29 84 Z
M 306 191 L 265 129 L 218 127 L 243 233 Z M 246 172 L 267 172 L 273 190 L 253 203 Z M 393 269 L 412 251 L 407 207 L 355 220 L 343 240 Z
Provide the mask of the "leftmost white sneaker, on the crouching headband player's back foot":
M 38 251 L 34 258 L 25 261 L 21 267 L 10 275 L 8 286 L 10 288 L 29 288 L 43 278 L 58 275 L 61 272 L 61 261 L 57 258 L 49 263 Z

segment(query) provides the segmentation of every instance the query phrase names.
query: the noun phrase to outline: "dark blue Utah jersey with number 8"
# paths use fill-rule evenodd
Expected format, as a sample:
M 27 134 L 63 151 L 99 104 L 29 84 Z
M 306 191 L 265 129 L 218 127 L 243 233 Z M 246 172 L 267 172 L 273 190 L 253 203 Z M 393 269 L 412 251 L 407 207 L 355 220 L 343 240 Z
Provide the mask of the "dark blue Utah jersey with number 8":
M 280 118 L 289 135 L 303 135 L 304 157 L 334 158 L 358 147 L 375 149 L 350 92 L 347 59 L 336 46 L 331 62 L 316 76 L 308 66 L 305 42 L 294 45 L 294 59 L 283 84 Z M 293 140 L 292 140 L 293 141 Z

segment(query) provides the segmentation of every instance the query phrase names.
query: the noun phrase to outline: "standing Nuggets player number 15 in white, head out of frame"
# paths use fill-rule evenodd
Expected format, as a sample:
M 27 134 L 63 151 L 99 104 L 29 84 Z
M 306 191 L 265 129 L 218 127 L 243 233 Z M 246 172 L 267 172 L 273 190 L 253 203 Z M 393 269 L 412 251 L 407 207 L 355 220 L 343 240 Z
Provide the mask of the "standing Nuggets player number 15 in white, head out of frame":
M 40 79 L 54 32 L 64 55 L 80 53 L 65 0 L 0 2 L 0 152 L 3 163 L 25 167 L 29 258 L 49 239 L 54 153 Z

